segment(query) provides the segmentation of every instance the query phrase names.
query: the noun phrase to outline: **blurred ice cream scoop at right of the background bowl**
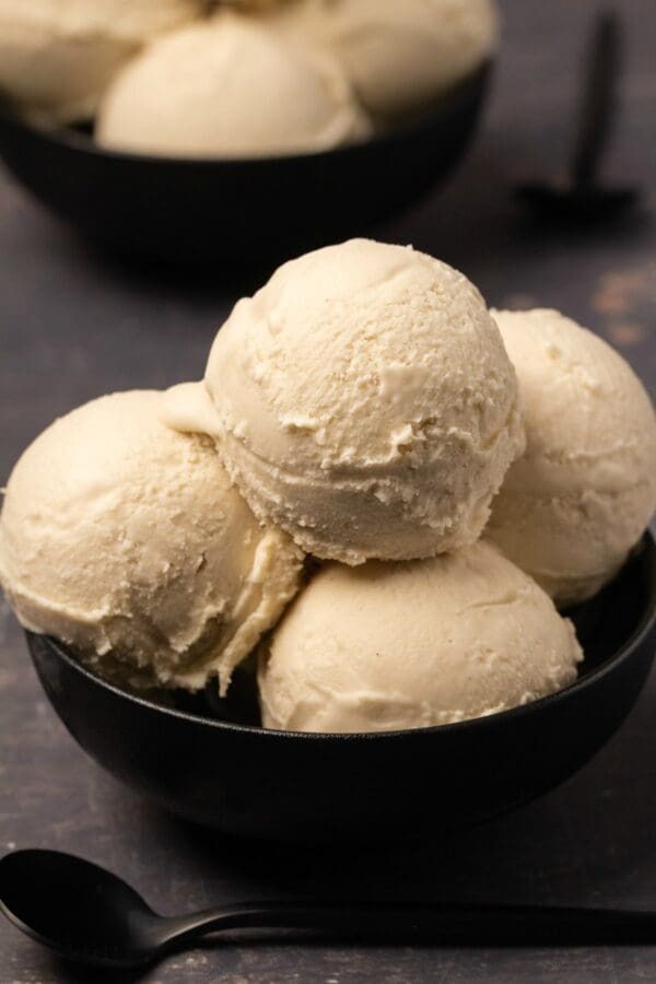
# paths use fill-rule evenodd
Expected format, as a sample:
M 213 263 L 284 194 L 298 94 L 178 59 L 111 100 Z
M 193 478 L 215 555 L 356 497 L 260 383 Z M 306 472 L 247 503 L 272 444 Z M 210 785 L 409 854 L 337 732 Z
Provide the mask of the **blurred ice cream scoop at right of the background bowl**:
M 277 23 L 335 51 L 363 105 L 398 116 L 435 99 L 496 46 L 495 0 L 302 0 Z

